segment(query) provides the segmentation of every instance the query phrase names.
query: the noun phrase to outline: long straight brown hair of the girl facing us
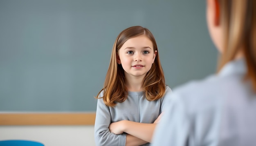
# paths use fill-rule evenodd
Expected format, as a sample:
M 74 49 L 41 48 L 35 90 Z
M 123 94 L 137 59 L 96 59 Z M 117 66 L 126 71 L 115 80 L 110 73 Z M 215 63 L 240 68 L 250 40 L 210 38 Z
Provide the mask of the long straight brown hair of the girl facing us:
M 103 97 L 99 97 L 101 91 L 96 97 L 103 98 L 103 101 L 107 106 L 113 107 L 117 102 L 124 102 L 127 98 L 128 89 L 126 88 L 126 78 L 124 76 L 123 67 L 121 64 L 117 64 L 117 52 L 128 39 L 139 35 L 148 37 L 153 43 L 154 52 L 157 50 L 155 62 L 152 64 L 151 69 L 144 78 L 143 88 L 146 99 L 149 101 L 158 100 L 165 93 L 164 72 L 160 63 L 157 44 L 153 34 L 148 29 L 141 26 L 129 27 L 122 31 L 115 40 L 105 83 L 101 90 L 103 91 Z

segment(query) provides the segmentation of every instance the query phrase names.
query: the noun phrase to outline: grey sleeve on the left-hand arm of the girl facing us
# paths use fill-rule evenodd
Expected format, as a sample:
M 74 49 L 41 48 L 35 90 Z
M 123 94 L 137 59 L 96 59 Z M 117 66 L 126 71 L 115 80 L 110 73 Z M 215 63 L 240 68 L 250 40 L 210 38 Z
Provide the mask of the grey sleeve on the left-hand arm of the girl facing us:
M 109 131 L 111 115 L 109 107 L 103 98 L 97 101 L 96 119 L 94 124 L 94 139 L 96 146 L 125 146 L 126 133 L 115 135 Z

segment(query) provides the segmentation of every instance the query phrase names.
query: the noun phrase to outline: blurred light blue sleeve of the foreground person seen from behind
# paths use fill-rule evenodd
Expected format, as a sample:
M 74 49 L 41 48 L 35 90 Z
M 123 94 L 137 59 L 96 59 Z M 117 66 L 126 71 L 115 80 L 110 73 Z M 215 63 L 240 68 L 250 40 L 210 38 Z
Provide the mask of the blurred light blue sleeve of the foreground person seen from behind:
M 186 146 L 189 140 L 190 120 L 182 100 L 172 94 L 170 105 L 155 129 L 150 146 Z

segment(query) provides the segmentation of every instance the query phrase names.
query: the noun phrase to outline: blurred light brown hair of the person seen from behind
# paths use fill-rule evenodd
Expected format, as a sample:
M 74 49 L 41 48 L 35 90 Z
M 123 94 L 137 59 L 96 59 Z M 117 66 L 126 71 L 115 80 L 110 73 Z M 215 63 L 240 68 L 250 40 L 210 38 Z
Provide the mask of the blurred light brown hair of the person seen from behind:
M 245 56 L 247 74 L 256 91 L 256 0 L 218 0 L 220 23 L 224 26 L 224 51 L 218 71 L 241 52 Z M 239 50 L 241 49 L 241 50 Z

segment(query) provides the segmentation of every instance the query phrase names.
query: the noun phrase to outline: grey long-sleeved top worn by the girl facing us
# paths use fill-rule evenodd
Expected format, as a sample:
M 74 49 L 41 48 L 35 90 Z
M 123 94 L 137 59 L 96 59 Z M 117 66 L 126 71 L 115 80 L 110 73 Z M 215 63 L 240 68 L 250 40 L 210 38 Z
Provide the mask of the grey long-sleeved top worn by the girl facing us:
M 164 97 L 156 101 L 144 98 L 144 91 L 128 92 L 128 98 L 115 107 L 106 106 L 103 98 L 98 99 L 94 138 L 97 146 L 125 146 L 126 133 L 115 135 L 109 131 L 112 122 L 129 120 L 140 123 L 153 123 L 162 111 L 168 106 L 167 100 L 171 95 L 171 88 L 166 86 Z M 103 92 L 99 97 L 103 96 Z M 145 144 L 145 146 L 149 145 Z

